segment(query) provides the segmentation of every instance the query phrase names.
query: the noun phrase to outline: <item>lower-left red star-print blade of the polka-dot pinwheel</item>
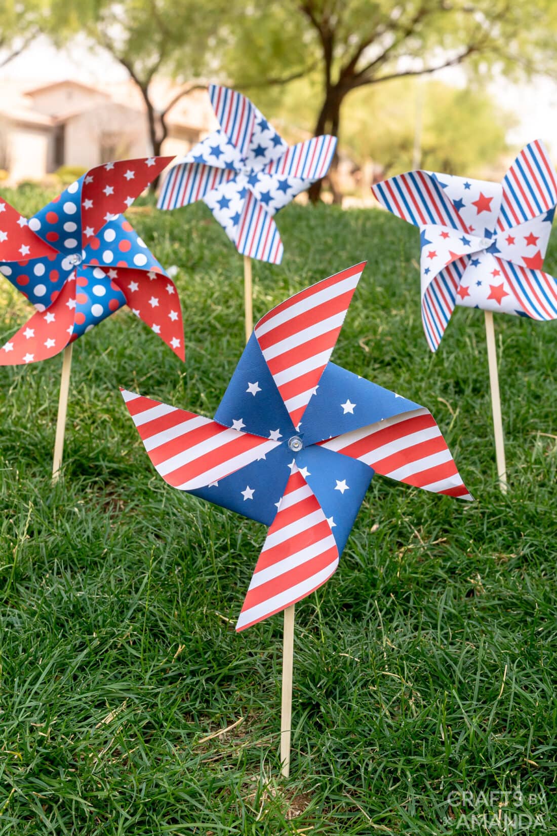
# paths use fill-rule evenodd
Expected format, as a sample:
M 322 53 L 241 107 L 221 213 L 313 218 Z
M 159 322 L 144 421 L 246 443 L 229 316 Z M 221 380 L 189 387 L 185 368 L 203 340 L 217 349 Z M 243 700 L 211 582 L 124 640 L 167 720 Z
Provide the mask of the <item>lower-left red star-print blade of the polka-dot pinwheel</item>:
M 0 365 L 38 363 L 59 354 L 72 339 L 75 279 L 68 278 L 50 308 L 33 314 L 0 349 Z

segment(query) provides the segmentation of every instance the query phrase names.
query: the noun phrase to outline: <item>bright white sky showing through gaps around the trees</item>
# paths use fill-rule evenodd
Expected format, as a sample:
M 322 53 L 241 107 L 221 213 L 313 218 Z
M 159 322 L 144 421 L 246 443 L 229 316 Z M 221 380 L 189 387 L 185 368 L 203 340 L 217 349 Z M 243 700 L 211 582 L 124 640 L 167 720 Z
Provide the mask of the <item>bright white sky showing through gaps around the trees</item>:
M 84 38 L 76 38 L 63 50 L 54 48 L 47 38 L 37 38 L 23 54 L 0 70 L 0 79 L 29 79 L 32 84 L 67 78 L 93 85 L 102 79 L 104 84 L 110 84 L 124 81 L 128 74 L 109 54 L 92 52 Z M 438 78 L 456 86 L 465 83 L 463 69 L 458 67 L 443 70 Z M 498 103 L 517 117 L 517 125 L 508 136 L 511 144 L 525 145 L 539 138 L 557 156 L 557 83 L 537 78 L 529 84 L 513 84 L 501 77 L 489 89 Z

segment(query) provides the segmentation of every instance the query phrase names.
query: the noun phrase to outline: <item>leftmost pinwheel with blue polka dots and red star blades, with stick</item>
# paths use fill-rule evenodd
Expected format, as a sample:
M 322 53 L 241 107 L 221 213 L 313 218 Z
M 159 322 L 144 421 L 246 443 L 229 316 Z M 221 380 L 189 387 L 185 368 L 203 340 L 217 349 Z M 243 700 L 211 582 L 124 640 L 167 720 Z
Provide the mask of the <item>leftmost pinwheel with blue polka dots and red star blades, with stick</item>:
M 175 285 L 120 214 L 171 159 L 149 157 L 93 168 L 29 219 L 0 201 L 0 271 L 37 308 L 0 349 L 0 365 L 36 363 L 64 353 L 54 479 L 62 461 L 75 339 L 127 303 L 184 359 Z

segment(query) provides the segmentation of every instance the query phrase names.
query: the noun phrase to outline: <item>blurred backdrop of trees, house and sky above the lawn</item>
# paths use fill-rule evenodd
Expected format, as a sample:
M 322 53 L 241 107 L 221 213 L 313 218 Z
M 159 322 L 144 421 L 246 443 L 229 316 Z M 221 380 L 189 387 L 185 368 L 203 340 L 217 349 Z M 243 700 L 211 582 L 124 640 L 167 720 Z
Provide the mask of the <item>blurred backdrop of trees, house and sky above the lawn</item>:
M 555 148 L 554 0 L 3 0 L 0 178 L 181 155 L 215 128 L 206 85 L 250 96 L 286 140 L 338 135 L 320 197 L 424 168 L 498 178 Z

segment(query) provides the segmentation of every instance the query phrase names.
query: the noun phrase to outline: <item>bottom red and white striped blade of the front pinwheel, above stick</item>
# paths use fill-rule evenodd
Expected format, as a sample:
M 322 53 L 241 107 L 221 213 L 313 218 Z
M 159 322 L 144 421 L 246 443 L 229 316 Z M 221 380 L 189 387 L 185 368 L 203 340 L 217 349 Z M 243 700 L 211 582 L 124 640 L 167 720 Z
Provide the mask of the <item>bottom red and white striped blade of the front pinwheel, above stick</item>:
M 324 584 L 338 566 L 327 517 L 296 466 L 256 564 L 236 630 L 281 612 Z

